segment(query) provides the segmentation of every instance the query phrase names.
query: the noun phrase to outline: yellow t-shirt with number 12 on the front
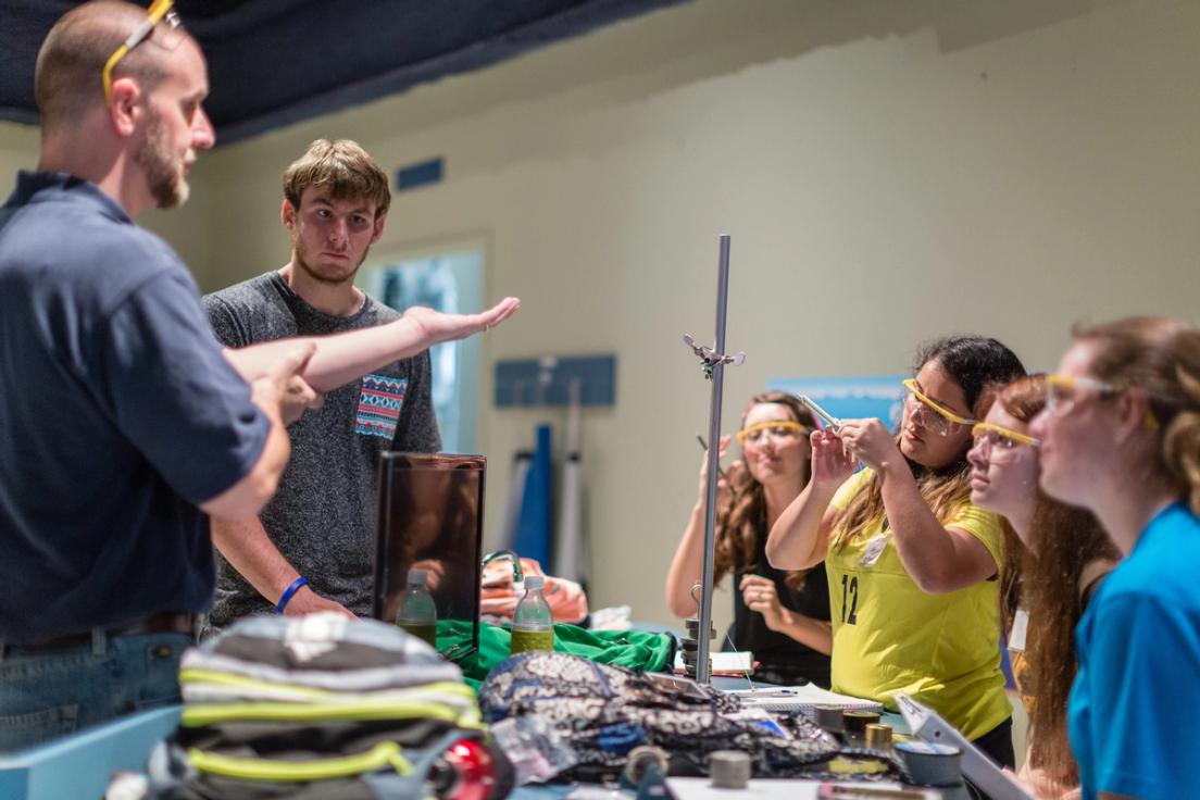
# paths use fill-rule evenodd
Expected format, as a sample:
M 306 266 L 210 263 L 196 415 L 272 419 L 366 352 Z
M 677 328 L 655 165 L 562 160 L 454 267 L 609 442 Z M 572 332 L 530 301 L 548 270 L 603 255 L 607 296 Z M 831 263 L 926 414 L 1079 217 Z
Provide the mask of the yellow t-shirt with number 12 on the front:
M 845 510 L 874 477 L 870 469 L 852 476 L 833 506 Z M 893 711 L 895 693 L 906 692 L 967 739 L 978 739 L 1013 714 L 1000 667 L 1000 581 L 926 594 L 904 569 L 884 522 L 881 516 L 826 555 L 833 691 L 878 700 Z M 964 498 L 946 527 L 971 534 L 997 565 L 1004 563 L 995 513 Z

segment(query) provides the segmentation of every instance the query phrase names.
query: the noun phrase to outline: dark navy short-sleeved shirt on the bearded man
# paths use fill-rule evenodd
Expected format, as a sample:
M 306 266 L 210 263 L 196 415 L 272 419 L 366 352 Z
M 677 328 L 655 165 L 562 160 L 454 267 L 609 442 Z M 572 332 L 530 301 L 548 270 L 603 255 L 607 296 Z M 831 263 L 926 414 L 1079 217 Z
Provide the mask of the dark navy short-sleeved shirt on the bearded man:
M 269 431 L 170 247 L 94 184 L 20 173 L 0 209 L 0 640 L 208 608 L 197 505 Z

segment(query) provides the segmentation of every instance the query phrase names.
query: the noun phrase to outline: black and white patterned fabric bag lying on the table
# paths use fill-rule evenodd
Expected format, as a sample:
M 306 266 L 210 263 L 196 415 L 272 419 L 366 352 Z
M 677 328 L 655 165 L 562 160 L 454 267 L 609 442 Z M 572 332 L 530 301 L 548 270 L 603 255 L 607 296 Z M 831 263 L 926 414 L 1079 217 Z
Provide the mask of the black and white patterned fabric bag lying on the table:
M 563 777 L 616 776 L 638 745 L 671 754 L 671 772 L 707 772 L 718 750 L 750 754 L 757 777 L 792 777 L 820 770 L 838 753 L 834 739 L 808 718 L 792 738 L 751 721 L 730 718 L 738 700 L 709 687 L 702 696 L 665 687 L 644 674 L 564 652 L 526 652 L 497 666 L 479 693 L 484 718 L 494 723 L 535 714 L 575 748 L 578 764 Z

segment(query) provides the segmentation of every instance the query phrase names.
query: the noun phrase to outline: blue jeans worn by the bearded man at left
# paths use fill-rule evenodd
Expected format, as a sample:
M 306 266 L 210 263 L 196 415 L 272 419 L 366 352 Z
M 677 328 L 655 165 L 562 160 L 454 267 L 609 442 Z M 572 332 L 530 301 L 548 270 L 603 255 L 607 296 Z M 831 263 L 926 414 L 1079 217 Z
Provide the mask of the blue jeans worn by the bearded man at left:
M 0 643 L 0 752 L 24 750 L 114 717 L 179 703 L 185 633 L 107 637 L 26 652 Z

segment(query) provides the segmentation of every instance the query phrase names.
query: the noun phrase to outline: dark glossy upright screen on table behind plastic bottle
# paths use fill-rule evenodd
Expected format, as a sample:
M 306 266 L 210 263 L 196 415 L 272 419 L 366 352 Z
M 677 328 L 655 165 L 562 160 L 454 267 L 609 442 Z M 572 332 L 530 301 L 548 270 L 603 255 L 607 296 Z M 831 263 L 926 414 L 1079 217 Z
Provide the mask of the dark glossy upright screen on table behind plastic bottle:
M 439 636 L 438 650 L 452 658 L 473 652 L 479 648 L 487 459 L 389 451 L 379 462 L 372 615 L 395 622 L 408 571 L 422 569 L 439 622 L 452 621 L 449 627 L 460 632 L 451 640 Z M 456 645 L 452 651 L 450 645 Z

